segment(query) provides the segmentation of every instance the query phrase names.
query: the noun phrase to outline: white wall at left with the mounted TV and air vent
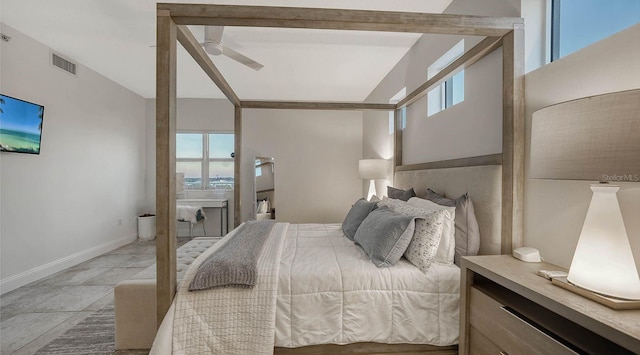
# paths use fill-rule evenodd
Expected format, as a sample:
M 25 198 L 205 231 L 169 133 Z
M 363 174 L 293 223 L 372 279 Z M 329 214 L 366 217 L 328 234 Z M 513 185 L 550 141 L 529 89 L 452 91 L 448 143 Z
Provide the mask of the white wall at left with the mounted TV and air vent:
M 145 101 L 2 24 L 3 94 L 44 105 L 40 155 L 0 153 L 2 292 L 133 241 L 145 202 Z

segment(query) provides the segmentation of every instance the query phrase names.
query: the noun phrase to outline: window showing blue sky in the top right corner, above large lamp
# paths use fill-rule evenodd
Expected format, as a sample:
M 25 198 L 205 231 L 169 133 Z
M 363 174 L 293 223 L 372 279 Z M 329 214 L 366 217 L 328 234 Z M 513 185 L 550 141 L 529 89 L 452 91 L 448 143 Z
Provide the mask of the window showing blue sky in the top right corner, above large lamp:
M 639 22 L 638 0 L 552 0 L 551 61 Z

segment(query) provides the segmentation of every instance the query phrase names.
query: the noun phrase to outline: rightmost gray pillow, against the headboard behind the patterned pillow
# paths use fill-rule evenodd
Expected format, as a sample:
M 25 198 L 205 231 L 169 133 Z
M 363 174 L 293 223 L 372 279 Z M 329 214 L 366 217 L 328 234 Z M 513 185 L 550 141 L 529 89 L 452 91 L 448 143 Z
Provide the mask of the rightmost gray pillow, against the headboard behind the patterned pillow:
M 465 193 L 455 200 L 452 200 L 431 189 L 427 189 L 427 200 L 433 201 L 441 206 L 456 208 L 456 253 L 454 256 L 456 265 L 460 265 L 461 256 L 478 255 L 478 250 L 480 249 L 480 229 L 469 193 Z

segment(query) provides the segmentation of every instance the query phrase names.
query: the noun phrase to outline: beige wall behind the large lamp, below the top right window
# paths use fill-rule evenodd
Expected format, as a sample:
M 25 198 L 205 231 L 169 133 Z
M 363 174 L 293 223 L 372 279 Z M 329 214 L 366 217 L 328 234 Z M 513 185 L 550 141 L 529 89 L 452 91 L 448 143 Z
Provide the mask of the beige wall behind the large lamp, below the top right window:
M 640 25 L 527 74 L 527 152 L 531 115 L 581 97 L 640 88 Z M 638 138 L 640 144 L 640 137 Z M 527 174 L 528 160 L 527 153 Z M 591 199 L 590 182 L 525 182 L 525 244 L 551 263 L 568 267 Z M 640 266 L 640 186 L 622 183 L 618 200 Z

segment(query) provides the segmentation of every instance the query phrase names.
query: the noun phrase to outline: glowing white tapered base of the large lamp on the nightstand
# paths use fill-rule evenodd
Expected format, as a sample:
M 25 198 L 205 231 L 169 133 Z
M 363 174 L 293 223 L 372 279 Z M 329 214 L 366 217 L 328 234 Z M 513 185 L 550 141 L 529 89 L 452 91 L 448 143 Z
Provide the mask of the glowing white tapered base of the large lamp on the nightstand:
M 640 277 L 616 193 L 620 187 L 591 185 L 593 197 L 567 279 L 590 291 L 640 299 Z

